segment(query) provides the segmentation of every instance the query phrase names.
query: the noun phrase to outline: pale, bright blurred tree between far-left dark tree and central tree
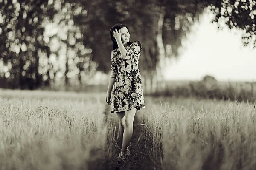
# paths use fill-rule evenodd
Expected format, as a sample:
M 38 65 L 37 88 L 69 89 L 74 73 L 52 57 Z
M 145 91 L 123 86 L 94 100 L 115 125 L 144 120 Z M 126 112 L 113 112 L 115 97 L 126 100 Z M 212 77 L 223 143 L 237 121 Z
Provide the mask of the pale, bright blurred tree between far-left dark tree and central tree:
M 58 12 L 47 23 L 44 34 L 51 47 L 48 60 L 50 68 L 45 69 L 45 72 L 49 71 L 49 78 L 55 80 L 55 83 L 64 79 L 64 84 L 68 86 L 78 80 L 81 85 L 82 81 L 93 76 L 97 66 L 91 61 L 91 49 L 83 45 L 81 28 L 73 20 L 82 8 L 79 3 L 64 0 L 55 0 L 53 5 L 58 6 Z

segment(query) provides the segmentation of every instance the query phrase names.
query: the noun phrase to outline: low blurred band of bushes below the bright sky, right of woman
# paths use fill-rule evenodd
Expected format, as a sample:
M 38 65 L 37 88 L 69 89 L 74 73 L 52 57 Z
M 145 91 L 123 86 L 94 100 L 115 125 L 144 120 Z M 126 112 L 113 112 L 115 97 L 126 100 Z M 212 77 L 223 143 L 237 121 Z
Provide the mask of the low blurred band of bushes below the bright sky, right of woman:
M 166 88 L 153 96 L 198 97 L 200 99 L 231 100 L 238 102 L 256 101 L 256 84 L 253 82 L 206 82 L 190 81 L 166 83 Z

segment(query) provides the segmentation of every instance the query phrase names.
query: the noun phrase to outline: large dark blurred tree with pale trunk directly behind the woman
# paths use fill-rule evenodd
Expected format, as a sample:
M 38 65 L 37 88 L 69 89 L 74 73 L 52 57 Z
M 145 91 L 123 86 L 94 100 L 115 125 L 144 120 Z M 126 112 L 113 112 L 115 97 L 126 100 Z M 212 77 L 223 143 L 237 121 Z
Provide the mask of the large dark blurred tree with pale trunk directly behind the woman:
M 131 32 L 131 40 L 143 44 L 140 68 L 144 79 L 151 79 L 151 85 L 155 75 L 161 75 L 164 59 L 178 57 L 183 37 L 205 8 L 203 0 L 67 1 L 84 7 L 74 21 L 82 26 L 84 45 L 92 48 L 99 71 L 107 73 L 110 69 L 109 29 L 115 23 L 124 23 Z

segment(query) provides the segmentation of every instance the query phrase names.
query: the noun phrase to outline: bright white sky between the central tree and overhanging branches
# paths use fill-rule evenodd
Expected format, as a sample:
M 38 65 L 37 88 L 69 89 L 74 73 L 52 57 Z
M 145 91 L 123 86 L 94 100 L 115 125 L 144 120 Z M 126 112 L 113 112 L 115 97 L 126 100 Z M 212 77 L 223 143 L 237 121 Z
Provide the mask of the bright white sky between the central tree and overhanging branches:
M 256 49 L 244 47 L 239 30 L 223 30 L 205 13 L 185 41 L 186 50 L 164 69 L 168 80 L 256 81 Z

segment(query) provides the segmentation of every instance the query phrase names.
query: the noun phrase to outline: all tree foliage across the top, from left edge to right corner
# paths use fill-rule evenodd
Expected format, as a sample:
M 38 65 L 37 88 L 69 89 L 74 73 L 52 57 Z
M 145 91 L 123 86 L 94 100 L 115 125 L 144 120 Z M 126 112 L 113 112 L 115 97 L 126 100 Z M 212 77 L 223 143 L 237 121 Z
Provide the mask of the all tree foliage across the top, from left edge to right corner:
M 141 72 L 155 76 L 207 7 L 255 46 L 255 0 L 0 0 L 0 87 L 81 85 L 96 68 L 107 73 L 115 23 L 142 42 Z

